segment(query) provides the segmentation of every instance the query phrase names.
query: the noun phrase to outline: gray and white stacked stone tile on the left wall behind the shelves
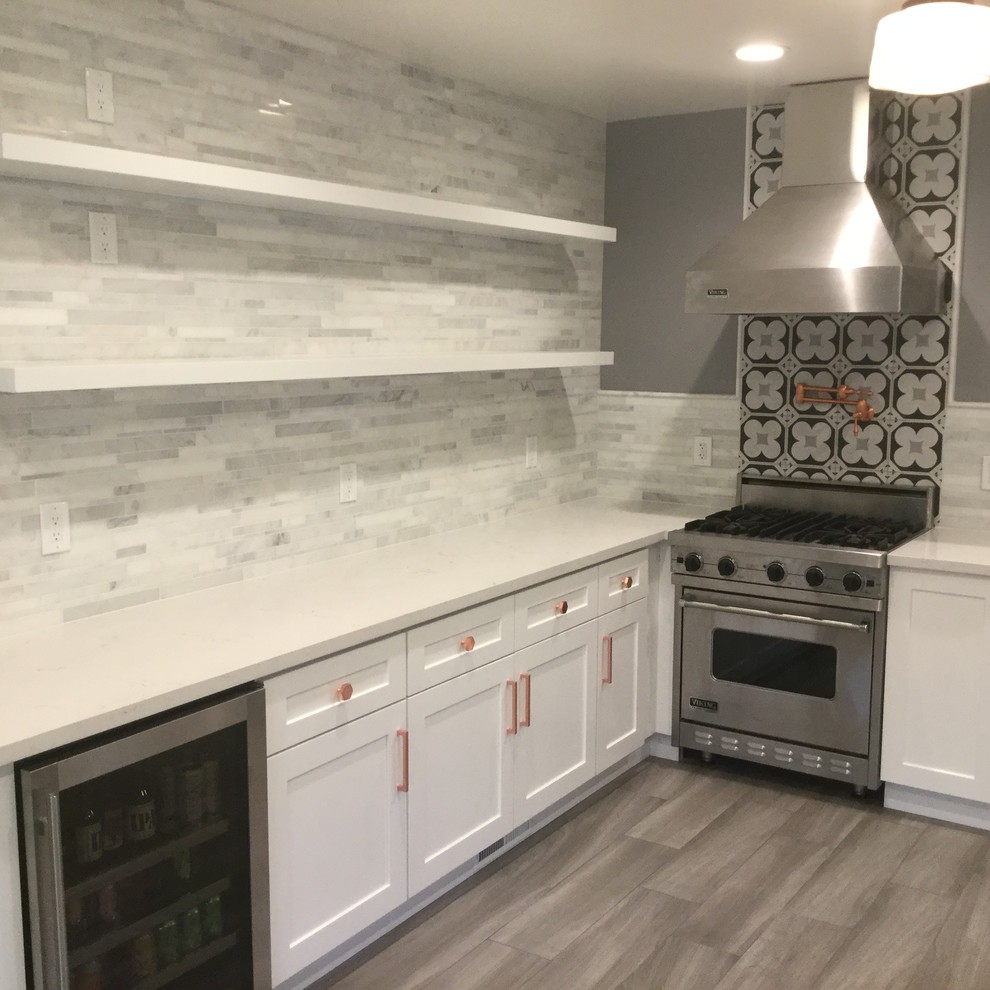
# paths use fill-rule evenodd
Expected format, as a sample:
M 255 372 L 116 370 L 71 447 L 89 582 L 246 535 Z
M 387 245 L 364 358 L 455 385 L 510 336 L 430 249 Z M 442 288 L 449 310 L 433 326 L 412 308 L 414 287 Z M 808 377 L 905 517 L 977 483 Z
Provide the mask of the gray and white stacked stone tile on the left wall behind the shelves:
M 4 130 L 601 219 L 597 121 L 200 0 L 2 21 Z M 112 125 L 86 119 L 87 66 L 114 73 Z M 599 346 L 600 247 L 12 179 L 0 196 L 5 360 Z M 115 267 L 88 260 L 90 210 L 117 216 Z M 594 494 L 597 402 L 594 370 L 0 396 L 0 633 Z M 60 500 L 73 549 L 41 557 L 38 505 Z

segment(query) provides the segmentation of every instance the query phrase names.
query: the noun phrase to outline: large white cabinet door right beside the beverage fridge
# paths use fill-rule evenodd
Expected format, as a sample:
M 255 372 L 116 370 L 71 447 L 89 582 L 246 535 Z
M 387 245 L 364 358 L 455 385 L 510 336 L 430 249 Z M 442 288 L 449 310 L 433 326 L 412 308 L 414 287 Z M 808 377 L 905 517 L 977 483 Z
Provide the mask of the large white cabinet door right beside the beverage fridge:
M 405 702 L 268 759 L 275 984 L 406 899 Z

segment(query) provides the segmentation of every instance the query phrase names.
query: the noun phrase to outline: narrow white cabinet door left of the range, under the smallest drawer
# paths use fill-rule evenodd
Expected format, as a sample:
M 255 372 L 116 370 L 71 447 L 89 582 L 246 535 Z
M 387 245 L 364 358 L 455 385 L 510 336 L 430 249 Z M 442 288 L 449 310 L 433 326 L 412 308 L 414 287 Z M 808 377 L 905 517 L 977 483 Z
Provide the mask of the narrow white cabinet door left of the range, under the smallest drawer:
M 649 611 L 633 602 L 598 620 L 598 772 L 639 749 L 650 734 Z

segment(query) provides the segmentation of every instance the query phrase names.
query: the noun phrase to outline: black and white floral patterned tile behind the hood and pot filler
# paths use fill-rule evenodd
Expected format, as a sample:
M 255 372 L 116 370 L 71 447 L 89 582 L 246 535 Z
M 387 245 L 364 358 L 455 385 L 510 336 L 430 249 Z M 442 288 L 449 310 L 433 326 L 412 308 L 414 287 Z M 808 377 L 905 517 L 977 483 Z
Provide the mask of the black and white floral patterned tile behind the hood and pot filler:
M 957 267 L 966 106 L 959 95 L 874 94 L 870 181 Z M 784 108 L 750 114 L 747 215 L 776 192 Z M 942 480 L 949 373 L 945 317 L 794 314 L 744 317 L 742 468 L 750 474 L 934 485 Z M 794 403 L 799 382 L 871 389 L 875 418 L 853 432 L 847 407 Z

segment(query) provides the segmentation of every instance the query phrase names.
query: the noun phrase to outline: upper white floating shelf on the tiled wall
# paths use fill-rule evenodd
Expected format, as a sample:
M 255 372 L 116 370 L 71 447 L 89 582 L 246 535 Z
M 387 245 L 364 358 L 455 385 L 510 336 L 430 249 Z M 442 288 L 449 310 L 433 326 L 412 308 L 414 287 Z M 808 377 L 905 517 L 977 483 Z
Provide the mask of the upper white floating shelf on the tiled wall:
M 0 134 L 0 173 L 526 241 L 615 240 L 614 227 L 576 220 L 29 134 Z

